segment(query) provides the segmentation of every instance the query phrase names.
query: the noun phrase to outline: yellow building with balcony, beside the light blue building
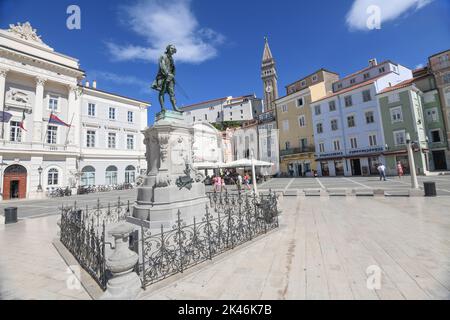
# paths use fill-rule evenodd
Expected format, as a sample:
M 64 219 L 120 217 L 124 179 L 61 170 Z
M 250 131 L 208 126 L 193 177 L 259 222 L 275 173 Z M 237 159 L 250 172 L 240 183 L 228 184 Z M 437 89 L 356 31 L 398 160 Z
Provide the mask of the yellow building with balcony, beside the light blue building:
M 317 170 L 311 101 L 332 92 L 339 75 L 320 69 L 286 86 L 286 96 L 275 100 L 280 136 L 280 170 L 290 176 L 310 176 Z

